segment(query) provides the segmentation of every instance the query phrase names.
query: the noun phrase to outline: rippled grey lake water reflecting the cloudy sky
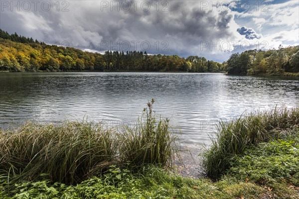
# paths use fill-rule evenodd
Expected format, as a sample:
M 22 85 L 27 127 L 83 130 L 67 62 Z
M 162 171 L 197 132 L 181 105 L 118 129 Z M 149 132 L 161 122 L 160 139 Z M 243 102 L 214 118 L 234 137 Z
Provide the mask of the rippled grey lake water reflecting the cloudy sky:
M 219 120 L 299 105 L 299 79 L 216 73 L 0 73 L 0 127 L 31 120 L 131 127 L 152 98 L 184 145 L 208 144 Z

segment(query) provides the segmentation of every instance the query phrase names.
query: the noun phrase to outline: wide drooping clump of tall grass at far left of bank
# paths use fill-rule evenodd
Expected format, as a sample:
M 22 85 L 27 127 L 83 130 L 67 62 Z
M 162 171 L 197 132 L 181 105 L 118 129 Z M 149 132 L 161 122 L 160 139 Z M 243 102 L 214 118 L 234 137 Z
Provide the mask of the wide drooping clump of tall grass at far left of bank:
M 0 175 L 14 182 L 41 174 L 52 182 L 75 184 L 115 164 L 116 136 L 100 124 L 26 123 L 0 134 Z

